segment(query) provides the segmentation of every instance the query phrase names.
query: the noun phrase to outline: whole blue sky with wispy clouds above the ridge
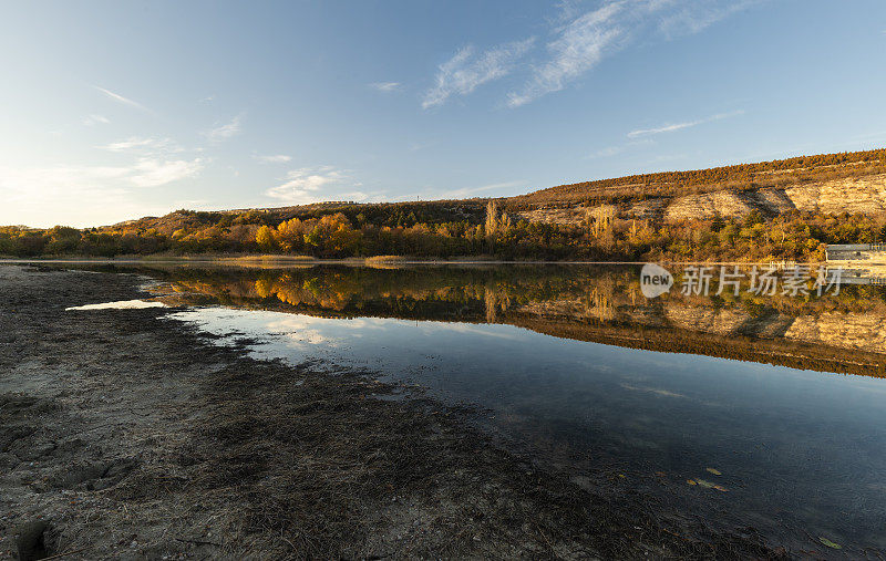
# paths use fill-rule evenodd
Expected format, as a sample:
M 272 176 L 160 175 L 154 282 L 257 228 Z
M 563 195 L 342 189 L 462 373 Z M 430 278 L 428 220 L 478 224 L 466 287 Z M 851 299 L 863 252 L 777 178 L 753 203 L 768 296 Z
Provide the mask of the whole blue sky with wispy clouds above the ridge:
M 886 147 L 883 0 L 0 3 L 0 225 Z

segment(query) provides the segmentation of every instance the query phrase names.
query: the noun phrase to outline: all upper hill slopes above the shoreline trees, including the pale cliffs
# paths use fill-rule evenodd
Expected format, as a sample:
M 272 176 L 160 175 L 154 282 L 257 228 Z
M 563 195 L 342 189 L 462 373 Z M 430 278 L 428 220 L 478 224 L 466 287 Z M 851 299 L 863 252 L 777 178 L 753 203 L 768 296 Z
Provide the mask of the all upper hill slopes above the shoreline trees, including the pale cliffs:
M 99 231 L 156 229 L 171 236 L 178 229 L 208 221 L 279 224 L 344 212 L 378 226 L 412 226 L 467 220 L 480 224 L 487 199 L 409 202 L 351 201 L 194 212 L 178 210 L 163 217 L 144 217 Z M 583 181 L 507 197 L 503 208 L 530 221 L 575 224 L 589 208 L 612 205 L 619 218 L 710 219 L 715 215 L 743 217 L 758 210 L 774 216 L 791 210 L 823 214 L 886 211 L 886 148 L 714 167 L 689 172 Z M 413 218 L 414 217 L 414 218 Z

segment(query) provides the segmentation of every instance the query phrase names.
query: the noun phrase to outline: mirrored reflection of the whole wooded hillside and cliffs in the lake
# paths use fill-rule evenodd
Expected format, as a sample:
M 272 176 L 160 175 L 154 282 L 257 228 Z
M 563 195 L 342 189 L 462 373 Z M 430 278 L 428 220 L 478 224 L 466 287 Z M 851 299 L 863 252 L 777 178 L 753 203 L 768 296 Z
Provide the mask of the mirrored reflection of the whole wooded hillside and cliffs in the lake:
M 169 269 L 168 303 L 507 323 L 580 341 L 884 376 L 886 290 L 647 300 L 633 267 Z

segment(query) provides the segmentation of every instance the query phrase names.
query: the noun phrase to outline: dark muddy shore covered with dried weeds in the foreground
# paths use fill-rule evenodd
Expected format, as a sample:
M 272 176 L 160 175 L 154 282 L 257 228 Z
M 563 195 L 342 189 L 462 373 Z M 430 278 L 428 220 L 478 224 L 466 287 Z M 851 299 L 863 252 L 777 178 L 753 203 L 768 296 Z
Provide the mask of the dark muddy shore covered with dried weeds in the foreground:
M 371 373 L 256 361 L 164 309 L 65 312 L 143 280 L 0 267 L 0 559 L 785 554 L 588 491 Z

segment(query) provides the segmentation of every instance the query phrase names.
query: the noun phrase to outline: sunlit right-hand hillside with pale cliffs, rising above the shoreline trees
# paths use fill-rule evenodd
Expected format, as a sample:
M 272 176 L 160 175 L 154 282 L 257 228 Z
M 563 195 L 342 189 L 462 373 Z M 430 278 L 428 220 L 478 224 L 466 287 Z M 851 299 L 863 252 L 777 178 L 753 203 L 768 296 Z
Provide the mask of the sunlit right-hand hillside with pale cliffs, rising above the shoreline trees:
M 584 181 L 507 199 L 527 220 L 576 224 L 588 208 L 664 221 L 886 211 L 886 149 Z

